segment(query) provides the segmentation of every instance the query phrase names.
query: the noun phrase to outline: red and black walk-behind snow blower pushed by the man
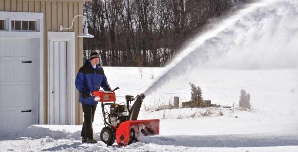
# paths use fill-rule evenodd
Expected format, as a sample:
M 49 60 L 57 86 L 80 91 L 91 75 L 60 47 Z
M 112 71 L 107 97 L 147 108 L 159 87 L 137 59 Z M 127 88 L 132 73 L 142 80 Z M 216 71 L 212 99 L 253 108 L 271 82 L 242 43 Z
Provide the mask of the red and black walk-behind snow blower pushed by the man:
M 159 135 L 159 119 L 137 120 L 144 94 L 116 96 L 115 91 L 94 91 L 94 100 L 101 103 L 105 127 L 100 132 L 100 139 L 107 145 L 117 141 L 119 146 L 138 142 L 142 136 Z M 116 98 L 125 98 L 125 104 L 117 104 Z M 130 103 L 134 104 L 130 107 Z M 107 110 L 109 109 L 109 111 Z

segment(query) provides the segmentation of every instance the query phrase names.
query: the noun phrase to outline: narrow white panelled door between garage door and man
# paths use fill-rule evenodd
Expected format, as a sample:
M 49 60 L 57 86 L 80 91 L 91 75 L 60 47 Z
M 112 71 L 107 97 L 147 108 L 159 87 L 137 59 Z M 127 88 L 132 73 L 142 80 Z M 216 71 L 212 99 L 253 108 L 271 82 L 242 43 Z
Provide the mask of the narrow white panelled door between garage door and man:
M 67 42 L 49 42 L 49 124 L 67 124 Z

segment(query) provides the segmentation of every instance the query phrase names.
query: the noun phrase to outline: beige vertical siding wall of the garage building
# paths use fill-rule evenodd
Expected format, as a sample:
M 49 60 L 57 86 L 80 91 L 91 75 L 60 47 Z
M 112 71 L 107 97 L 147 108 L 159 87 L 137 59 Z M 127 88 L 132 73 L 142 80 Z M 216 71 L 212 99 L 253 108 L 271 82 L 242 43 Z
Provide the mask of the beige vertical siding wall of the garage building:
M 13 12 L 42 12 L 44 13 L 44 120 L 47 122 L 47 99 L 48 99 L 48 75 L 47 75 L 47 32 L 58 32 L 59 25 L 63 27 L 70 27 L 72 20 L 76 15 L 82 15 L 83 2 L 82 0 L 0 0 L 0 11 L 13 11 Z M 77 37 L 83 31 L 82 17 L 75 19 L 74 26 L 70 30 L 64 32 L 75 32 L 75 70 L 79 70 L 82 66 L 82 51 L 83 39 Z M 82 124 L 83 114 L 81 105 L 78 104 L 78 92 L 76 91 L 75 98 L 76 109 L 76 124 Z

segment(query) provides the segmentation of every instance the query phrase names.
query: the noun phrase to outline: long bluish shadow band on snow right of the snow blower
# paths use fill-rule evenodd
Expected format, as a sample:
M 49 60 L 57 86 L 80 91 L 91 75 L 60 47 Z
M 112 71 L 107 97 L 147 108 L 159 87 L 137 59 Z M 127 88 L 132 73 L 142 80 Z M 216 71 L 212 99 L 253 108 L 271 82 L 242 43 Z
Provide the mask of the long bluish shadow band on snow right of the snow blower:
M 140 142 L 186 147 L 266 147 L 298 145 L 298 135 L 151 136 Z

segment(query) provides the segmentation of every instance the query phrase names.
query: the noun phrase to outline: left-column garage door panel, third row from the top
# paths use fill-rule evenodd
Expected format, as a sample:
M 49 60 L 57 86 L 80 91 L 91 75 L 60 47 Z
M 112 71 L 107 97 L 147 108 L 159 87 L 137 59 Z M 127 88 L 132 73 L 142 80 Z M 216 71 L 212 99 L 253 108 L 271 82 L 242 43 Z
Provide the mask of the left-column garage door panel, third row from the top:
M 1 109 L 15 106 L 15 86 L 1 85 Z

